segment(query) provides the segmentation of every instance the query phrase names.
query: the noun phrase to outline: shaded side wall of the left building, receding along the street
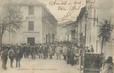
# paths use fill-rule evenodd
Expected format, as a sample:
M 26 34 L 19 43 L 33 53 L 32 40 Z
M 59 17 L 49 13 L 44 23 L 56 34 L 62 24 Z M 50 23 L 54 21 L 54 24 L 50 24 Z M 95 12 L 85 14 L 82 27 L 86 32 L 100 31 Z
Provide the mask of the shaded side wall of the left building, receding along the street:
M 43 36 L 43 43 L 46 42 L 46 35 L 47 36 L 47 42 L 53 42 L 52 35 L 57 33 L 57 22 L 53 22 L 52 16 L 50 15 L 49 11 L 43 8 L 42 11 L 42 36 Z M 51 19 L 51 20 L 49 20 Z M 55 20 L 54 20 L 55 21 Z M 50 35 L 49 35 L 50 34 Z M 50 38 L 50 39 L 49 39 Z M 54 39 L 55 41 L 55 39 Z

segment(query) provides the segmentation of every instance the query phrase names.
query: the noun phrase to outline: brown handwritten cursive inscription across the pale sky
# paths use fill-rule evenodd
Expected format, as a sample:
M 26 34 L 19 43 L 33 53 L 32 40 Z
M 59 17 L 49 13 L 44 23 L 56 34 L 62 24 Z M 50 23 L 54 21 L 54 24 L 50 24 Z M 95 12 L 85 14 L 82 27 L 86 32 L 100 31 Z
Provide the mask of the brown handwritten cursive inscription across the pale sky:
M 95 0 L 87 0 L 86 3 L 88 4 L 88 9 L 94 8 Z M 61 20 L 66 20 L 73 16 L 73 14 L 80 10 L 83 5 L 83 0 L 74 0 L 74 1 L 68 1 L 68 0 L 51 0 L 49 2 L 50 6 L 57 6 L 58 11 L 67 11 L 66 14 L 63 15 Z

